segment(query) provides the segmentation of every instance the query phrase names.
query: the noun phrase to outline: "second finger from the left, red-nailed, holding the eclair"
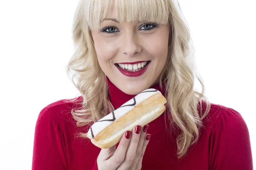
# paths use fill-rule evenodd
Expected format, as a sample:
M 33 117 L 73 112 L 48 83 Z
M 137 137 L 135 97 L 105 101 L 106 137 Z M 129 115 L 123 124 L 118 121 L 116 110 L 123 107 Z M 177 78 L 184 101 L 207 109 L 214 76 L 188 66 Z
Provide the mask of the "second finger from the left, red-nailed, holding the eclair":
M 117 168 L 117 170 L 126 170 L 129 167 L 131 167 L 132 163 L 135 160 L 136 152 L 137 152 L 137 146 L 140 142 L 140 132 L 141 132 L 141 126 L 137 125 L 134 127 L 134 130 L 132 130 L 131 134 L 131 142 L 128 146 L 128 149 L 125 154 L 125 160 L 120 164 L 120 166 Z

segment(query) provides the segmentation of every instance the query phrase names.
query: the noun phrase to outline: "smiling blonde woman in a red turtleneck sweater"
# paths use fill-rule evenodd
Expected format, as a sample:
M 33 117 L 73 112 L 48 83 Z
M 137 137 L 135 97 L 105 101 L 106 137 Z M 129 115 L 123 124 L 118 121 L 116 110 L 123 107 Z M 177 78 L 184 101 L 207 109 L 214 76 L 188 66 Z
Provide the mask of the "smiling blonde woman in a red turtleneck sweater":
M 81 96 L 39 114 L 33 170 L 253 169 L 241 115 L 204 96 L 176 0 L 81 0 L 74 21 L 67 71 Z M 166 97 L 165 113 L 109 149 L 86 138 L 93 122 L 147 88 Z

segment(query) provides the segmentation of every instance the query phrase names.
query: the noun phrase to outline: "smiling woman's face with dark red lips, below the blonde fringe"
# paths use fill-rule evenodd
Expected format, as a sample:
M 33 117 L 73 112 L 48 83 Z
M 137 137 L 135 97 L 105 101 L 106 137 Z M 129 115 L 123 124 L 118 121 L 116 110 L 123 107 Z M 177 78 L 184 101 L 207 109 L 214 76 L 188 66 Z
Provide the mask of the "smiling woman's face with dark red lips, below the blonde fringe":
M 116 11 L 91 30 L 102 71 L 121 91 L 139 94 L 160 81 L 168 53 L 169 26 L 151 21 L 119 23 Z

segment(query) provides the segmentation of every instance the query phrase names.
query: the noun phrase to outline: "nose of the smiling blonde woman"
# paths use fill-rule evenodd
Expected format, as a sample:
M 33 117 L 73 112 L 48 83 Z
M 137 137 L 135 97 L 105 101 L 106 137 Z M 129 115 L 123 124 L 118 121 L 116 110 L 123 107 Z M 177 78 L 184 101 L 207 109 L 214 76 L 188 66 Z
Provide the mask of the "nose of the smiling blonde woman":
M 138 37 L 134 34 L 125 34 L 123 39 L 123 54 L 130 57 L 134 56 L 136 53 L 140 53 L 141 45 L 139 43 Z

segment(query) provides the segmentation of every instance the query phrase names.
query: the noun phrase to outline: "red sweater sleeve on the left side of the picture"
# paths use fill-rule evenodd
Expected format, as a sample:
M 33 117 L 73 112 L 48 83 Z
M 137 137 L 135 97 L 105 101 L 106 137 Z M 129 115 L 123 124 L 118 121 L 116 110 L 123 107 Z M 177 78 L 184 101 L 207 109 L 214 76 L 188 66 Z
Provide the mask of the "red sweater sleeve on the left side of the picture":
M 47 108 L 35 126 L 32 170 L 68 170 L 64 135 Z

